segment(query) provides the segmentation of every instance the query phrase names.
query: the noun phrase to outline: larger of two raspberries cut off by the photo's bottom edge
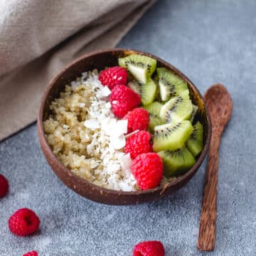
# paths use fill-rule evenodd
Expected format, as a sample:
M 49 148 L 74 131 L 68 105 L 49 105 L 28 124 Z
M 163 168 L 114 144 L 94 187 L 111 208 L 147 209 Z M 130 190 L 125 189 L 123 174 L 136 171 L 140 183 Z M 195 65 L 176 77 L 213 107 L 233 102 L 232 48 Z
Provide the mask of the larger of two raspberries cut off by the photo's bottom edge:
M 134 246 L 133 256 L 164 256 L 164 245 L 159 241 L 139 242 Z

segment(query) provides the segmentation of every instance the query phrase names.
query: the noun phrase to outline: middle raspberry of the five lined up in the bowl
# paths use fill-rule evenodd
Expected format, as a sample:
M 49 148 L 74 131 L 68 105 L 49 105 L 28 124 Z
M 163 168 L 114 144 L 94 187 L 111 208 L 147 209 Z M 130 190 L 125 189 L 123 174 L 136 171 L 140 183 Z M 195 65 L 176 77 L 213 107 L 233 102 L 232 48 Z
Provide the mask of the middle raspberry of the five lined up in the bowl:
M 128 133 L 136 131 L 146 130 L 149 126 L 149 112 L 142 107 L 137 107 L 132 111 L 129 111 L 124 119 L 128 119 Z

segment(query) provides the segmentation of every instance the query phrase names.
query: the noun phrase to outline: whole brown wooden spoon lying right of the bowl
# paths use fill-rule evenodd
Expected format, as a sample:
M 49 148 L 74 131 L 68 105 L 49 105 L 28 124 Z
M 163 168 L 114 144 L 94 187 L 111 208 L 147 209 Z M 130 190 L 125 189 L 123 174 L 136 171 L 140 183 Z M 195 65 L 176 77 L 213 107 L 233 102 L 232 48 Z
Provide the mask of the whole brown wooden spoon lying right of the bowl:
M 228 123 L 233 103 L 228 90 L 217 84 L 210 87 L 203 96 L 210 112 L 212 135 L 203 191 L 201 221 L 198 235 L 198 250 L 212 251 L 215 246 L 216 205 L 218 183 L 218 149 L 225 124 Z

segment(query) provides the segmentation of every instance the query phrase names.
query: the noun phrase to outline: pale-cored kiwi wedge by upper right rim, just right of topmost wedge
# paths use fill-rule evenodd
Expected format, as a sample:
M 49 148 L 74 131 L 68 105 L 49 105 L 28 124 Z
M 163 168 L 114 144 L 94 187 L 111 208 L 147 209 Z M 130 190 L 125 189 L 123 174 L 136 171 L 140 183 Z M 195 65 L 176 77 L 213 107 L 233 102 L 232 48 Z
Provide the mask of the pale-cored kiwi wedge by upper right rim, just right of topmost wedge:
M 183 90 L 188 90 L 186 81 L 167 68 L 157 68 L 161 100 L 166 101 L 176 97 Z

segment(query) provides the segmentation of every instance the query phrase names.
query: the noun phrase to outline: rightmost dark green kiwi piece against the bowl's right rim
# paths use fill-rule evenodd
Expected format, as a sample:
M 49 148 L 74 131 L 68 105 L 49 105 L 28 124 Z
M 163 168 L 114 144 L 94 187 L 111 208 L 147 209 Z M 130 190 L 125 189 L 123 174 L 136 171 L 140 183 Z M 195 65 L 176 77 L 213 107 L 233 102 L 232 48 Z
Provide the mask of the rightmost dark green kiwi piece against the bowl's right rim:
M 194 157 L 198 156 L 203 149 L 203 125 L 201 122 L 196 122 L 193 126 L 193 132 L 188 138 L 186 145 Z

